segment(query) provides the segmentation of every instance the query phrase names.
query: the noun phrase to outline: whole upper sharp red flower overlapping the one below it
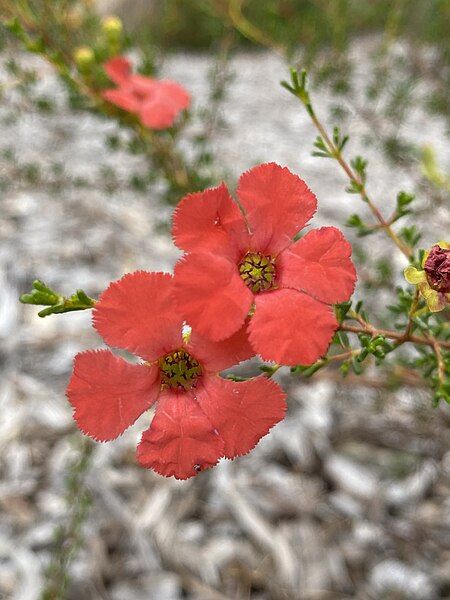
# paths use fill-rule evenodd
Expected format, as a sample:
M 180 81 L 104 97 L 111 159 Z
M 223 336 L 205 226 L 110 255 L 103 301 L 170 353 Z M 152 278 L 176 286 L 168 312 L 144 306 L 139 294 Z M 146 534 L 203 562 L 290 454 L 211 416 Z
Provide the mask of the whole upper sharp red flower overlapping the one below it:
M 351 296 L 351 246 L 335 227 L 294 236 L 316 211 L 306 183 L 274 163 L 244 173 L 239 206 L 224 184 L 186 196 L 173 237 L 185 254 L 175 267 L 178 305 L 201 335 L 221 340 L 254 307 L 249 338 L 264 360 L 311 364 L 338 324 L 330 304 Z

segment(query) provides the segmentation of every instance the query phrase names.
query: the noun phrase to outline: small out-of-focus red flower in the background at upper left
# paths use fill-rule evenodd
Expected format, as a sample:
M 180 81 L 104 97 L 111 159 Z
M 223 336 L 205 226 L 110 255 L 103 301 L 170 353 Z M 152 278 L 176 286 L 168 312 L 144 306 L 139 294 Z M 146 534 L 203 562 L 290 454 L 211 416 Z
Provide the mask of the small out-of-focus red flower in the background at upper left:
M 181 85 L 133 75 L 130 62 L 123 56 L 111 58 L 105 64 L 105 71 L 118 87 L 105 90 L 103 98 L 137 115 L 142 125 L 150 129 L 171 127 L 190 104 L 190 96 Z

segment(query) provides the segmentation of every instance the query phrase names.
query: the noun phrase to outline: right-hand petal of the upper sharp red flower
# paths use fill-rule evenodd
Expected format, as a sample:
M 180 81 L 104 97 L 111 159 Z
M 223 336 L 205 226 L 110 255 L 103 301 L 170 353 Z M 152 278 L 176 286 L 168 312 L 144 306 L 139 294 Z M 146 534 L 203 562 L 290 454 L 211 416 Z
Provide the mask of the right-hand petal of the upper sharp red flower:
M 345 302 L 355 289 L 352 247 L 336 227 L 322 227 L 282 252 L 280 284 L 322 302 Z

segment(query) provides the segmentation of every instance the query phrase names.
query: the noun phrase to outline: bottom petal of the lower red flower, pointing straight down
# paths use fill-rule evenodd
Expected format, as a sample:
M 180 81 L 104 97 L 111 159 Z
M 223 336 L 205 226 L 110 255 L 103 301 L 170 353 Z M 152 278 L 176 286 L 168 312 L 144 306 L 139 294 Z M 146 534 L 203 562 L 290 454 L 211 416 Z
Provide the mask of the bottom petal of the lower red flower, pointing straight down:
M 223 441 L 191 394 L 162 392 L 137 449 L 140 464 L 165 477 L 188 479 L 221 456 Z

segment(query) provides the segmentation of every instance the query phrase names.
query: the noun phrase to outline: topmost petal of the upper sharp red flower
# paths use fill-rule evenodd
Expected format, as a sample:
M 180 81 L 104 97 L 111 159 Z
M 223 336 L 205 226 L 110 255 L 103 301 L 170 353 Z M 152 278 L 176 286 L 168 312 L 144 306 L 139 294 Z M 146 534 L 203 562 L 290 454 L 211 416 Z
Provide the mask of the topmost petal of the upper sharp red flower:
M 254 233 L 253 249 L 267 254 L 284 250 L 317 207 L 303 179 L 275 163 L 244 173 L 237 194 Z

